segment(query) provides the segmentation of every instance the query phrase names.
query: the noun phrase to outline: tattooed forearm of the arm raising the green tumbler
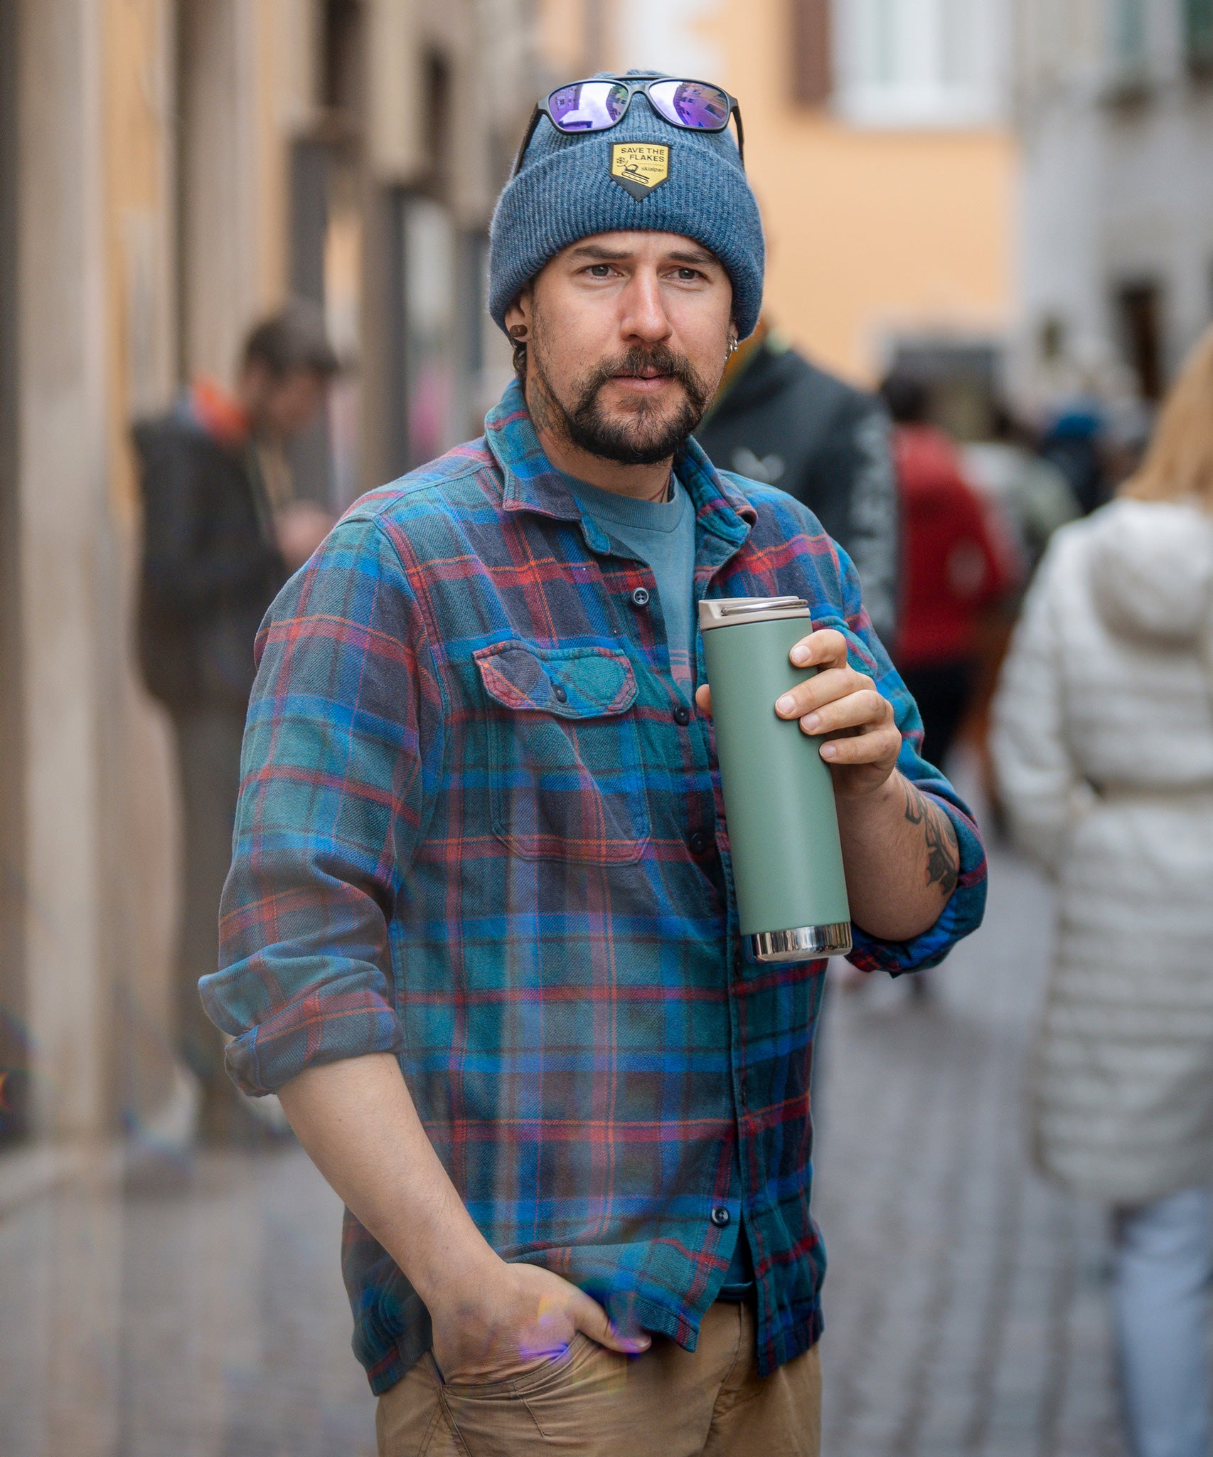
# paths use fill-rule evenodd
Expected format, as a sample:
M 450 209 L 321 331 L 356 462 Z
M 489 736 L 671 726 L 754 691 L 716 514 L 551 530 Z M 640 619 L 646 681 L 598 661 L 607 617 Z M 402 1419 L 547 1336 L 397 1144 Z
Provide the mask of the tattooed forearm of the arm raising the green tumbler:
M 880 790 L 839 796 L 837 806 L 852 919 L 884 941 L 920 935 L 957 886 L 952 822 L 896 771 Z

